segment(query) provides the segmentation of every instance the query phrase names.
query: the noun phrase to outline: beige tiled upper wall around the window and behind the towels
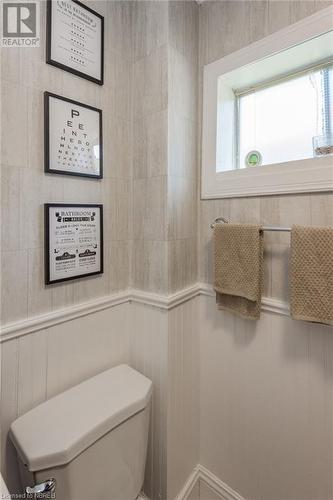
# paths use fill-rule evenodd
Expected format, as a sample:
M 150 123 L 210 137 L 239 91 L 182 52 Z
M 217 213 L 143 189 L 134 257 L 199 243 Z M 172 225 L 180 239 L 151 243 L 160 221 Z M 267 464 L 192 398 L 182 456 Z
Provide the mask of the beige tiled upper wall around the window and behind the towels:
M 203 66 L 288 26 L 332 2 L 223 1 L 200 6 L 199 110 L 202 110 Z M 198 137 L 201 138 L 201 127 Z M 201 147 L 199 147 L 201 150 Z M 219 216 L 233 222 L 291 226 L 333 225 L 333 194 L 304 194 L 201 200 L 199 203 L 199 281 L 212 282 L 209 224 Z M 265 233 L 264 295 L 288 300 L 288 234 Z

